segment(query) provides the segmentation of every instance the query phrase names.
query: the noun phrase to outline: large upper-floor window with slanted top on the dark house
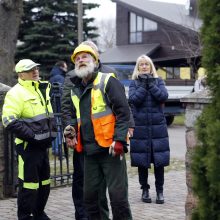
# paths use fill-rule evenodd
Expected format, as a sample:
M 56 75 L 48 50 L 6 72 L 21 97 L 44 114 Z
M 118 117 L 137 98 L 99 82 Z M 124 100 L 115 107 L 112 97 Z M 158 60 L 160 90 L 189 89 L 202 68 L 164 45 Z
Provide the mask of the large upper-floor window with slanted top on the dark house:
M 142 43 L 142 33 L 157 30 L 157 23 L 130 13 L 130 43 Z

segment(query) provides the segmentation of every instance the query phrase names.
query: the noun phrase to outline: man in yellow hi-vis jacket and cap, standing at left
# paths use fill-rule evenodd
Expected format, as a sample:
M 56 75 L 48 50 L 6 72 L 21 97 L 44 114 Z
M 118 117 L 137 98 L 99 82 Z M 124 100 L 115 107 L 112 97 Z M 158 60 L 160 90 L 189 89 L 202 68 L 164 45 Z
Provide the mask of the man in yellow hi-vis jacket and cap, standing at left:
M 2 122 L 15 134 L 18 154 L 18 219 L 47 220 L 44 212 L 50 193 L 47 149 L 56 137 L 56 121 L 50 103 L 50 84 L 39 80 L 40 64 L 20 60 L 18 83 L 6 94 Z

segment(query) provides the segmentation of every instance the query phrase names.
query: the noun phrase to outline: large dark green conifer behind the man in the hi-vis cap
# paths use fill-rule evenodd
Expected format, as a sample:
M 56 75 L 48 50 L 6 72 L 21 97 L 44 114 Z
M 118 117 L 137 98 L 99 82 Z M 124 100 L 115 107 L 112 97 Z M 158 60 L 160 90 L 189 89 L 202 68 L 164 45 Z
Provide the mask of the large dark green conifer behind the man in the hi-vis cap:
M 83 4 L 83 37 L 93 39 L 94 18 L 85 18 L 85 10 L 97 4 Z M 19 30 L 16 61 L 29 58 L 41 64 L 42 73 L 48 75 L 58 60 L 70 64 L 70 55 L 78 44 L 76 0 L 24 1 L 24 16 Z M 44 77 L 45 78 L 45 77 Z

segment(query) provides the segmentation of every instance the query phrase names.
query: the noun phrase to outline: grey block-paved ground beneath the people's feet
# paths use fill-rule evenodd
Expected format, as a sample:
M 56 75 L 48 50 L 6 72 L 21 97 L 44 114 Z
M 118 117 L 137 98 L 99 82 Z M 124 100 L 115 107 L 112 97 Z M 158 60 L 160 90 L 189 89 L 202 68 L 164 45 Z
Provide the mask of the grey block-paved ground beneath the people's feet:
M 129 174 L 129 201 L 134 220 L 184 220 L 186 181 L 184 170 L 171 170 L 165 173 L 165 203 L 155 204 L 154 176 L 149 175 L 152 203 L 141 201 L 141 189 L 138 176 Z M 52 220 L 73 220 L 74 206 L 71 198 L 71 187 L 51 190 L 46 213 Z M 15 220 L 16 199 L 0 200 L 0 220 Z

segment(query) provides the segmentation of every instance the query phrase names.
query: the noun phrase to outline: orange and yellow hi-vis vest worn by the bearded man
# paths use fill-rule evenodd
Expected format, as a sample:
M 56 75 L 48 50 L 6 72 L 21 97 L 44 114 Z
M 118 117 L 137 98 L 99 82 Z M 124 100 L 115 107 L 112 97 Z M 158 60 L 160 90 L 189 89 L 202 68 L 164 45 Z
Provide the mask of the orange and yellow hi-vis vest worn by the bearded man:
M 110 76 L 115 77 L 113 73 L 99 72 L 93 81 L 93 88 L 91 90 L 91 119 L 95 134 L 95 140 L 101 147 L 109 147 L 113 142 L 113 135 L 115 130 L 115 115 L 112 109 L 105 101 L 105 87 Z M 79 97 L 71 91 L 71 98 L 76 109 L 76 116 L 78 122 L 77 145 L 76 151 L 82 152 L 83 146 L 80 135 L 80 110 Z

